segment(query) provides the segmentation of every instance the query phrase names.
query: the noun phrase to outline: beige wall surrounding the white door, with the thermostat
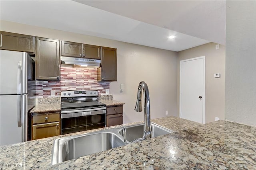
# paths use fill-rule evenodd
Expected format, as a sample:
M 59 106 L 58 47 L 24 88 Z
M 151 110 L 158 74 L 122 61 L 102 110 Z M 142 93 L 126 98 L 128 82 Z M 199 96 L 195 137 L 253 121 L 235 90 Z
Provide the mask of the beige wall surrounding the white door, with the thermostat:
M 216 43 L 207 43 L 178 52 L 177 60 L 177 116 L 180 98 L 180 61 L 205 56 L 205 123 L 224 120 L 225 115 L 225 46 L 215 49 Z M 220 78 L 214 78 L 220 73 Z

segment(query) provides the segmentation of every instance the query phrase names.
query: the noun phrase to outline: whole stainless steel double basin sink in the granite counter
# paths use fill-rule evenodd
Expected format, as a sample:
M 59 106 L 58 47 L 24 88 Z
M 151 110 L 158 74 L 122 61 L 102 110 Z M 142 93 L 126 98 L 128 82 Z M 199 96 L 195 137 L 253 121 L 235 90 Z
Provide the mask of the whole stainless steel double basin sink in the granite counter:
M 151 123 L 152 137 L 172 133 L 169 129 Z M 144 123 L 126 126 L 126 141 L 142 138 Z M 58 164 L 81 156 L 124 146 L 123 127 L 106 129 L 83 135 L 56 139 L 53 145 L 52 164 Z

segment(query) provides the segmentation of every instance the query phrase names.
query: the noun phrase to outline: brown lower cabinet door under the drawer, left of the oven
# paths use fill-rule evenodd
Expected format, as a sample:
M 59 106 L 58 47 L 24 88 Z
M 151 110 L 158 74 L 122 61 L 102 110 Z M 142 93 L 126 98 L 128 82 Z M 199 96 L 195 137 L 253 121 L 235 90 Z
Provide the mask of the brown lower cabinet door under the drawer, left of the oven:
M 60 135 L 60 122 L 32 125 L 32 140 Z

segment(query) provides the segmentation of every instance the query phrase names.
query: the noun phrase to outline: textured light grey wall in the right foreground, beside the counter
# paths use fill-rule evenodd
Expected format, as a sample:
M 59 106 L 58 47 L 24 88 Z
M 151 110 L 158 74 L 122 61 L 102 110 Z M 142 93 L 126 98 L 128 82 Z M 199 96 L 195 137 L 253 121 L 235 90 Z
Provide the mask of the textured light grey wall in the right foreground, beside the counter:
M 226 4 L 226 119 L 256 126 L 256 1 Z

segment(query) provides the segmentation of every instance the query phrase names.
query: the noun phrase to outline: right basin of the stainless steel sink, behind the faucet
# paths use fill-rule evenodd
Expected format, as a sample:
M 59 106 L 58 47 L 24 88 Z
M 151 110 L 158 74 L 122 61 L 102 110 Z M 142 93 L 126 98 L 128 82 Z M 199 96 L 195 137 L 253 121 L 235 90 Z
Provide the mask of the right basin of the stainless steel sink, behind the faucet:
M 134 139 L 139 139 L 143 137 L 144 133 L 144 123 L 138 125 L 131 125 L 126 127 L 126 141 L 132 142 Z M 168 133 L 173 133 L 173 131 L 166 129 L 156 123 L 151 123 L 152 137 L 157 137 L 160 135 L 166 135 Z M 119 130 L 120 135 L 124 136 L 123 129 Z

